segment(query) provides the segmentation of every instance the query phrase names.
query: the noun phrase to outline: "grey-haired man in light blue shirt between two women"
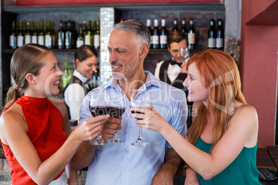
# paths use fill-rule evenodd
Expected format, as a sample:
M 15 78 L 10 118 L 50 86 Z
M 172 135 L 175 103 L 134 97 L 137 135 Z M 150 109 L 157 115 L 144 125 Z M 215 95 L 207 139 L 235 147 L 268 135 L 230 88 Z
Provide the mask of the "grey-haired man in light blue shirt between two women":
M 109 37 L 109 62 L 113 78 L 98 89 L 124 90 L 127 107 L 122 119 L 108 119 L 102 129 L 104 139 L 113 138 L 118 130 L 124 143 L 109 143 L 105 146 L 92 146 L 83 142 L 78 150 L 82 150 L 82 161 L 73 157 L 77 169 L 89 166 L 86 184 L 174 184 L 174 176 L 182 159 L 170 146 L 163 135 L 151 130 L 142 130 L 145 142 L 149 146 L 132 146 L 138 138 L 138 126 L 130 117 L 130 98 L 132 90 L 151 90 L 153 106 L 160 115 L 178 132 L 185 136 L 187 131 L 187 101 L 185 93 L 159 81 L 144 71 L 143 62 L 149 52 L 150 32 L 141 21 L 129 20 L 115 25 Z M 86 95 L 80 108 L 80 123 L 91 117 L 89 100 Z M 166 146 L 165 147 L 165 142 Z

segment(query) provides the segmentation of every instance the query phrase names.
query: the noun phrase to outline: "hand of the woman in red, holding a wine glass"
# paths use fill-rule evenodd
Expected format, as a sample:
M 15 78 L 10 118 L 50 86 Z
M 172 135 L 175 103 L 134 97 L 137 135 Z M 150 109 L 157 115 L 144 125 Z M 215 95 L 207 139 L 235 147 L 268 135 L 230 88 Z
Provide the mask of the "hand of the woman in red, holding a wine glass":
M 90 117 L 79 124 L 73 133 L 77 134 L 80 142 L 90 141 L 95 139 L 102 131 L 103 124 L 108 120 L 109 115 L 101 115 L 97 117 Z

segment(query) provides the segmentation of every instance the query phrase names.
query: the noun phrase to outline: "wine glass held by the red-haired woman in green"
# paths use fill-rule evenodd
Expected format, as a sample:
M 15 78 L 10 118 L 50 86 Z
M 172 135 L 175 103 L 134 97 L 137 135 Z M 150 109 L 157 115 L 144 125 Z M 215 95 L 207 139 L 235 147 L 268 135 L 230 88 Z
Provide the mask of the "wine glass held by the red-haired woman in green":
M 148 90 L 133 90 L 130 99 L 130 106 L 139 106 L 151 109 L 151 92 Z M 131 111 L 131 113 L 140 113 L 139 111 Z M 144 113 L 141 113 L 144 114 Z M 133 146 L 149 146 L 142 137 L 142 127 L 139 127 L 138 139 L 131 143 Z

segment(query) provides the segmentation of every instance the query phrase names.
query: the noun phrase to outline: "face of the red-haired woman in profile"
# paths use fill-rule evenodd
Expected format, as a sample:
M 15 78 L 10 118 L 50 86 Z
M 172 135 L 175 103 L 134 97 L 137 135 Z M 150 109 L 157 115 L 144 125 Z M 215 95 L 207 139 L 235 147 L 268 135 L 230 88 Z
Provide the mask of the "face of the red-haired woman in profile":
M 192 63 L 187 71 L 187 78 L 183 82 L 183 86 L 187 87 L 188 101 L 201 101 L 207 105 L 209 88 L 203 84 L 205 79 L 196 68 L 196 62 Z

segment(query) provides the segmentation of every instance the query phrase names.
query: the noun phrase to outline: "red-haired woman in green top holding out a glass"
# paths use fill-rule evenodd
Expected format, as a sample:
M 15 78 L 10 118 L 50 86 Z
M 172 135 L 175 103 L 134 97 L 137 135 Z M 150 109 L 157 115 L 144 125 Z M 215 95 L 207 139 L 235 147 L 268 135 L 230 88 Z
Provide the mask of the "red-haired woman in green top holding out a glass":
M 191 167 L 185 184 L 259 184 L 258 117 L 241 93 L 237 64 L 221 50 L 202 50 L 187 63 L 189 101 L 194 101 L 187 139 L 154 108 L 131 108 L 138 126 L 163 135 Z M 182 111 L 181 111 L 182 112 Z M 182 116 L 182 115 L 181 115 Z

